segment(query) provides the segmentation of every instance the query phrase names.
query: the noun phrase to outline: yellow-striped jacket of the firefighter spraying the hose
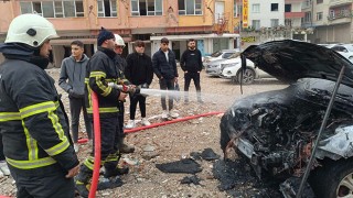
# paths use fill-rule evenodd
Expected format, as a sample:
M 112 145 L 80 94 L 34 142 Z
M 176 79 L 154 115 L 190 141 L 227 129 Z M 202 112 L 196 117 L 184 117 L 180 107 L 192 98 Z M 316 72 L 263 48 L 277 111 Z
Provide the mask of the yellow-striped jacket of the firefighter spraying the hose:
M 93 102 L 92 92 L 97 94 L 99 117 L 117 117 L 118 97 L 120 91 L 108 86 L 108 82 L 118 84 L 121 70 L 116 65 L 116 53 L 113 50 L 98 47 L 92 56 L 86 70 L 86 102 L 87 112 L 92 117 Z

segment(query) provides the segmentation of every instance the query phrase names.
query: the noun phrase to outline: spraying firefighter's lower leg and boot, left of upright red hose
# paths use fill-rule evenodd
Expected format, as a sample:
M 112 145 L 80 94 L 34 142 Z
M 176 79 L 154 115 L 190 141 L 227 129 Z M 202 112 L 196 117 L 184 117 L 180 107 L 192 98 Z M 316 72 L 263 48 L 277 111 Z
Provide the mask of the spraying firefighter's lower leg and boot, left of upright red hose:
M 79 174 L 76 176 L 75 179 L 76 190 L 78 191 L 81 197 L 88 197 L 90 188 L 90 178 L 92 170 L 87 166 L 85 166 L 85 164 L 81 165 Z

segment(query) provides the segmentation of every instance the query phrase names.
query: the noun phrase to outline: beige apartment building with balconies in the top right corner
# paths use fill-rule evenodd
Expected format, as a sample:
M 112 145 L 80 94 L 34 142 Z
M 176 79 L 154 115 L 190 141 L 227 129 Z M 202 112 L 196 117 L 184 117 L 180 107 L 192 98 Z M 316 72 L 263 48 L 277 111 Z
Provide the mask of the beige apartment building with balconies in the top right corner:
M 303 26 L 312 43 L 352 43 L 352 0 L 304 0 Z

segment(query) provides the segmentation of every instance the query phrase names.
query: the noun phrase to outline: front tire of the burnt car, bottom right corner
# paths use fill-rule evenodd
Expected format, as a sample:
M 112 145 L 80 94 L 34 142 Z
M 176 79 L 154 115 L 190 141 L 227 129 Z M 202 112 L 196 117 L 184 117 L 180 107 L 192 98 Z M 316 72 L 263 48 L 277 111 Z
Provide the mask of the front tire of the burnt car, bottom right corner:
M 320 198 L 345 197 L 353 194 L 353 158 L 328 161 L 310 175 L 310 186 Z

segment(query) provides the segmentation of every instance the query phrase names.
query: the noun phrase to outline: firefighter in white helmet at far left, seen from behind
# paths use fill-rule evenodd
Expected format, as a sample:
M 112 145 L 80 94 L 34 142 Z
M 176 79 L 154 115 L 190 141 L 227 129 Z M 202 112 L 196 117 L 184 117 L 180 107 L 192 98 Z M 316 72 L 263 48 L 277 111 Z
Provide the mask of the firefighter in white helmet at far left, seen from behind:
M 75 196 L 79 162 L 54 79 L 44 70 L 54 37 L 45 18 L 22 14 L 0 45 L 0 133 L 19 198 Z

